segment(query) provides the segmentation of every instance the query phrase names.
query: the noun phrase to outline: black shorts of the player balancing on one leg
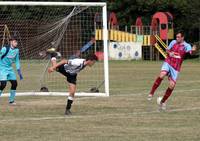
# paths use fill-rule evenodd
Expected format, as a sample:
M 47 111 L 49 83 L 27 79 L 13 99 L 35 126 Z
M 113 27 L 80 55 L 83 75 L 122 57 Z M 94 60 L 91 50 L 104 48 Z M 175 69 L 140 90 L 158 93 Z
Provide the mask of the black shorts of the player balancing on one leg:
M 69 83 L 72 83 L 74 85 L 76 85 L 76 77 L 77 77 L 77 74 L 70 74 L 68 72 L 65 71 L 65 68 L 64 68 L 64 65 L 61 65 L 59 66 L 57 69 L 56 69 L 57 72 L 61 73 L 62 75 L 64 75 L 65 77 L 67 77 L 67 81 Z

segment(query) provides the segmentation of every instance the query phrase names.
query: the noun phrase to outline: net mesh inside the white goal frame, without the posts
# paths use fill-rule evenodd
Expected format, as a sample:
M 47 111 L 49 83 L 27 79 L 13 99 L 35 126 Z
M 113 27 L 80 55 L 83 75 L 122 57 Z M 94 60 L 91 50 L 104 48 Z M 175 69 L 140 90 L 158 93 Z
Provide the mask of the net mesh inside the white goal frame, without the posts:
M 61 74 L 47 73 L 50 59 L 45 52 L 56 48 L 62 58 L 69 59 L 85 44 L 94 40 L 95 15 L 102 15 L 101 7 L 87 6 L 0 6 L 1 44 L 8 43 L 9 36 L 18 38 L 24 80 L 19 92 L 66 92 L 67 81 Z M 102 17 L 102 16 L 100 16 Z M 5 25 L 9 31 L 5 31 Z M 102 18 L 98 21 L 102 28 Z M 5 34 L 6 33 L 6 34 Z M 5 35 L 4 35 L 5 34 Z M 96 41 L 80 57 L 103 52 L 103 41 Z M 77 78 L 78 92 L 90 92 L 104 81 L 103 61 L 86 67 Z M 104 87 L 99 88 L 104 92 Z

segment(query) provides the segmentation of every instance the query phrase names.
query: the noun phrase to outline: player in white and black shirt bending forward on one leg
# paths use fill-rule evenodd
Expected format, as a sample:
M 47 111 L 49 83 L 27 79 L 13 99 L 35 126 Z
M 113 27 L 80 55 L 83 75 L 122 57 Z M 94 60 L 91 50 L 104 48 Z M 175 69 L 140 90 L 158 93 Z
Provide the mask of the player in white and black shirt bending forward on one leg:
M 75 58 L 69 60 L 61 60 L 60 62 L 56 62 L 56 57 L 51 58 L 52 66 L 48 69 L 48 72 L 51 73 L 53 71 L 57 71 L 64 75 L 67 78 L 69 83 L 69 96 L 67 100 L 67 106 L 65 110 L 65 115 L 71 115 L 71 105 L 74 100 L 74 95 L 76 92 L 76 78 L 77 73 L 83 70 L 86 66 L 93 66 L 97 61 L 96 55 L 90 55 L 86 59 Z

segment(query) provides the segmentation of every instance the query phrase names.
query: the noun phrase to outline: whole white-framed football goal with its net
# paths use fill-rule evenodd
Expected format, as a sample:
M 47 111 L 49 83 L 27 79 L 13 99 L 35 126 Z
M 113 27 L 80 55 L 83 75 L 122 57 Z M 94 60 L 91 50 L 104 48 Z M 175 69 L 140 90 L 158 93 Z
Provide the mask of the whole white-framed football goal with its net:
M 49 48 L 65 59 L 96 54 L 99 61 L 78 74 L 76 95 L 109 95 L 105 3 L 0 2 L 0 19 L 1 47 L 8 44 L 10 36 L 18 39 L 24 75 L 24 80 L 18 81 L 18 95 L 68 92 L 64 76 L 47 72 Z M 102 40 L 95 40 L 97 29 L 102 31 Z

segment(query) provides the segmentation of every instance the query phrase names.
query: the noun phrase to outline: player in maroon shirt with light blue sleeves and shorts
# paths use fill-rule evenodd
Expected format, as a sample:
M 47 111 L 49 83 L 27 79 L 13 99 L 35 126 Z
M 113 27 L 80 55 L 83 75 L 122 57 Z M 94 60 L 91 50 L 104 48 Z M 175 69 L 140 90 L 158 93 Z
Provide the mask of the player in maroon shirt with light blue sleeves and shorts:
M 190 44 L 186 43 L 184 41 L 184 33 L 182 31 L 178 32 L 176 34 L 176 40 L 173 40 L 168 48 L 167 48 L 167 58 L 165 59 L 161 72 L 158 76 L 158 78 L 155 80 L 152 89 L 148 95 L 148 100 L 151 100 L 156 89 L 161 84 L 162 80 L 165 76 L 168 76 L 169 78 L 169 86 L 162 97 L 162 99 L 158 99 L 157 102 L 160 106 L 160 110 L 166 110 L 166 100 L 170 97 L 172 94 L 172 91 L 174 90 L 174 87 L 176 85 L 176 81 L 178 78 L 178 74 L 181 69 L 181 64 L 184 60 L 184 57 L 187 53 L 192 54 L 196 51 L 196 47 L 191 47 Z

